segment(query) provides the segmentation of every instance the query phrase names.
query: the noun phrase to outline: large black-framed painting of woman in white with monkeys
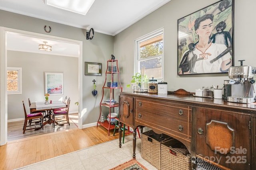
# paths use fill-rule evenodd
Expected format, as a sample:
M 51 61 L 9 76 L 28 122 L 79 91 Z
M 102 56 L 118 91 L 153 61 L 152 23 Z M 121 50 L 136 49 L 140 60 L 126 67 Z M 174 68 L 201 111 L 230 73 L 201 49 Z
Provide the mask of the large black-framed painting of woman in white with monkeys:
M 233 17 L 233 0 L 221 0 L 178 20 L 178 75 L 228 72 Z

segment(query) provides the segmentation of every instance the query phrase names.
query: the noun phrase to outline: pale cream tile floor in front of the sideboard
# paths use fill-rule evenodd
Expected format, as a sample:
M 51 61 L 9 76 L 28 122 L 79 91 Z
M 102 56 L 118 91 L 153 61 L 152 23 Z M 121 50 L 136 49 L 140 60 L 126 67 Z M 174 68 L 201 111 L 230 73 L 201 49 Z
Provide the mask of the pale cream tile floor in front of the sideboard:
M 78 150 L 49 160 L 28 165 L 19 170 L 108 170 L 132 159 L 132 137 L 125 137 L 124 144 L 119 148 L 119 140 Z M 141 140 L 136 142 L 136 160 L 148 170 L 156 170 L 141 155 Z

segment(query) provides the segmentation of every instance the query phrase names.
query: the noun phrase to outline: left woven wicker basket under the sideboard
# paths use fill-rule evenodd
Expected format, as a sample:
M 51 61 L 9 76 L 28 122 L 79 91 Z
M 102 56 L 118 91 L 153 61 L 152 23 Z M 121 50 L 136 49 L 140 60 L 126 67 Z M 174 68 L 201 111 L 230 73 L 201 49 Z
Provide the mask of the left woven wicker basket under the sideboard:
M 161 143 L 171 139 L 165 134 L 158 134 L 154 131 L 146 131 L 141 135 L 141 157 L 148 161 L 155 168 L 160 170 L 161 166 Z

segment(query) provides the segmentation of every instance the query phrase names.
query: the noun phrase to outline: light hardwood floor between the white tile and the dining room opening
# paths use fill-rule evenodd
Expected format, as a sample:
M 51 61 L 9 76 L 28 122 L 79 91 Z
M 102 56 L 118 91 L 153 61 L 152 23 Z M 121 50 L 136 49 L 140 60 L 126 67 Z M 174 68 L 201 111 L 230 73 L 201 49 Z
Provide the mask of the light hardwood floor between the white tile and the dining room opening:
M 108 136 L 104 127 L 95 126 L 8 141 L 6 145 L 0 146 L 0 170 L 20 168 L 114 139 L 118 139 L 118 134 L 113 136 L 113 130 Z

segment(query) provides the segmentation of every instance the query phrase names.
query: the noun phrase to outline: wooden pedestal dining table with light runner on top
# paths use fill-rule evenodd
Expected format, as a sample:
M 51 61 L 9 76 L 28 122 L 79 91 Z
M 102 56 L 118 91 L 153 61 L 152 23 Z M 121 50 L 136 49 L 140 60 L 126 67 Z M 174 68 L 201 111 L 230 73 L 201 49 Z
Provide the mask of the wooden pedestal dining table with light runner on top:
M 44 122 L 43 125 L 46 124 L 52 124 L 54 123 L 54 120 L 52 119 L 52 111 L 53 109 L 59 109 L 59 108 L 66 108 L 66 103 L 63 101 L 51 101 L 50 103 L 46 104 L 46 102 L 32 102 L 30 105 L 30 113 L 34 111 L 47 111 L 47 118 L 48 120 Z M 55 121 L 55 123 L 58 125 L 58 122 Z

